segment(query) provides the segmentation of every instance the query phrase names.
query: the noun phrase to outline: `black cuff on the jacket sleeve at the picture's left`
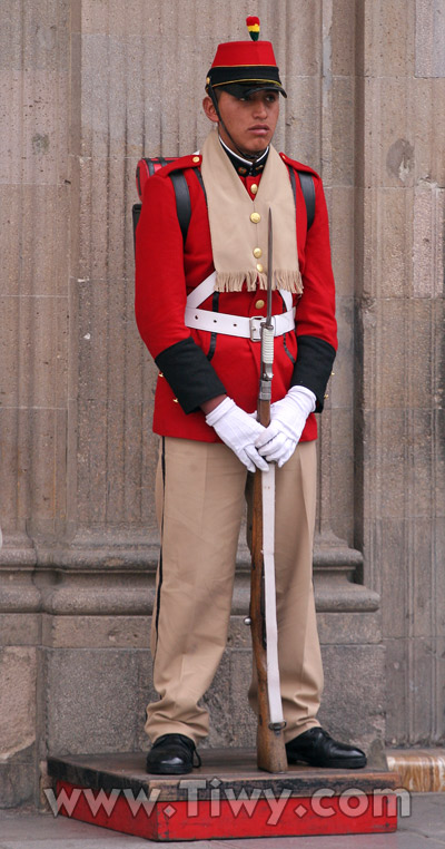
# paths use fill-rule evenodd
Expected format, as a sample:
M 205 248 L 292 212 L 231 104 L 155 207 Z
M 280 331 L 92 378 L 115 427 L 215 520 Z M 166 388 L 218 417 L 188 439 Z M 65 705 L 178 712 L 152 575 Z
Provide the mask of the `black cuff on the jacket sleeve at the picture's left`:
M 155 362 L 175 392 L 184 412 L 196 412 L 226 389 L 204 351 L 191 336 L 166 348 Z

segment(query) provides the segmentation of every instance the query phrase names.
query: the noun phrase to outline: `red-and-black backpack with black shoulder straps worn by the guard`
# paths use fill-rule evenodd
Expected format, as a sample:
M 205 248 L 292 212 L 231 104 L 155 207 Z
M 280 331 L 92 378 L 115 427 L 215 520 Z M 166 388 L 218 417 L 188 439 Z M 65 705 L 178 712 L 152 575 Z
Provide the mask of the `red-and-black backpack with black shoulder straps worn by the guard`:
M 147 179 L 149 179 L 149 177 L 152 177 L 152 175 L 156 174 L 157 170 L 159 170 L 160 168 L 164 168 L 165 165 L 175 163 L 179 158 L 180 157 L 178 156 L 171 156 L 168 158 L 164 158 L 164 156 L 154 156 L 154 157 L 149 157 L 145 159 L 139 159 L 137 168 L 136 168 L 136 187 L 138 189 L 138 195 L 140 199 L 142 199 L 144 186 Z M 295 172 L 289 166 L 288 166 L 288 170 L 290 175 L 290 184 L 294 192 L 294 199 L 296 199 L 297 187 L 295 184 Z M 204 194 L 206 194 L 206 189 L 204 188 L 202 177 L 201 177 L 201 173 L 199 168 L 196 168 L 196 175 L 199 179 Z M 172 172 L 169 176 L 174 184 L 175 197 L 176 197 L 176 209 L 178 213 L 179 226 L 181 228 L 184 243 L 186 243 L 188 225 L 190 223 L 190 217 L 191 217 L 190 194 L 188 191 L 187 180 L 181 170 Z M 314 216 L 315 216 L 314 178 L 312 174 L 308 174 L 306 170 L 298 170 L 298 178 L 301 186 L 303 196 L 305 198 L 307 230 L 309 231 L 309 228 L 312 227 L 314 223 Z M 141 203 L 134 204 L 132 227 L 134 227 L 135 246 L 136 246 L 136 227 L 138 226 L 141 208 L 142 208 Z

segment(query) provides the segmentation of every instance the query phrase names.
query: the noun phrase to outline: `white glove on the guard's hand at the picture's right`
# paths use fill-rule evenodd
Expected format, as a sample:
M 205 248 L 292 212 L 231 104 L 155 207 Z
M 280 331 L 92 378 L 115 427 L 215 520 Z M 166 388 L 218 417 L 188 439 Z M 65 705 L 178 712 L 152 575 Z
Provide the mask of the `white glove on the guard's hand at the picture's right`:
M 306 419 L 314 412 L 316 397 L 306 387 L 291 387 L 280 400 L 270 404 L 270 424 L 255 445 L 258 453 L 280 468 L 294 453 Z

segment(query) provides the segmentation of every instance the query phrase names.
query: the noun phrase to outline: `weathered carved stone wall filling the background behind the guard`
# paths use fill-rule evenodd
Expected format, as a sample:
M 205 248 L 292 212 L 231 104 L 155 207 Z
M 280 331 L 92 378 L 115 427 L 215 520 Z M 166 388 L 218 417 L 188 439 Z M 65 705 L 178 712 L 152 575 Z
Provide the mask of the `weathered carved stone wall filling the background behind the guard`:
M 141 155 L 207 131 L 217 41 L 258 13 L 276 146 L 324 177 L 340 350 L 323 414 L 320 719 L 444 739 L 444 0 L 4 0 L 0 20 L 0 806 L 47 753 L 147 748 L 156 369 L 132 313 Z M 209 744 L 251 743 L 240 540 Z

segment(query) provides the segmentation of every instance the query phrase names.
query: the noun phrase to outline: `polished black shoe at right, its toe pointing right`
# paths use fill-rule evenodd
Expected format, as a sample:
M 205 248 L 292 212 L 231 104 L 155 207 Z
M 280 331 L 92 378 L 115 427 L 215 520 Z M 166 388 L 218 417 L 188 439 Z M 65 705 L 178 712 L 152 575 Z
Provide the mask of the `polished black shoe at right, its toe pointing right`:
M 286 743 L 288 763 L 304 761 L 310 767 L 357 770 L 366 767 L 366 754 L 346 743 L 338 743 L 322 728 L 305 731 Z

